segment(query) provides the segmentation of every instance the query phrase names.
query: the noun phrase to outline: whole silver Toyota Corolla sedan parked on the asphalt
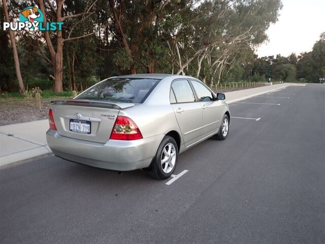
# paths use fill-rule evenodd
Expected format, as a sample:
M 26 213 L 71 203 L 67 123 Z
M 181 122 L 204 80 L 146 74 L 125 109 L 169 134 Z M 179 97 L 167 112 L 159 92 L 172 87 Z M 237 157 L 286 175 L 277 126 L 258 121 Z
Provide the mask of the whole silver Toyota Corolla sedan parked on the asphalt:
M 180 153 L 228 136 L 224 99 L 190 76 L 112 77 L 74 99 L 52 101 L 46 138 L 57 157 L 118 171 L 144 168 L 166 179 Z

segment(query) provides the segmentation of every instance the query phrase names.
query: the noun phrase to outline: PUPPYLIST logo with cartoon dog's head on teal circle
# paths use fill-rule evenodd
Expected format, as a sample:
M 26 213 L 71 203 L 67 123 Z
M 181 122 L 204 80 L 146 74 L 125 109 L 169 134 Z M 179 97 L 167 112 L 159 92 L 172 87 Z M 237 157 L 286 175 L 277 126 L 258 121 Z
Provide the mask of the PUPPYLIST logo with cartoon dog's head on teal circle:
M 36 7 L 27 7 L 20 12 L 19 22 L 4 22 L 4 31 L 11 29 L 12 31 L 61 31 L 63 22 L 46 22 L 43 23 L 44 16 L 42 11 Z

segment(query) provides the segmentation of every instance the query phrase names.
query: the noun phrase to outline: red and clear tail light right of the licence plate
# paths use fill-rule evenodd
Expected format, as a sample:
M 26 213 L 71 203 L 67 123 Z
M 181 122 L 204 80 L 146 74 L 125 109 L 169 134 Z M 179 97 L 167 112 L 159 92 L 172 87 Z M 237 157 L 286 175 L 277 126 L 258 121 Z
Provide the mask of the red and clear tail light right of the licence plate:
M 117 116 L 110 139 L 129 141 L 142 138 L 139 128 L 131 118 Z

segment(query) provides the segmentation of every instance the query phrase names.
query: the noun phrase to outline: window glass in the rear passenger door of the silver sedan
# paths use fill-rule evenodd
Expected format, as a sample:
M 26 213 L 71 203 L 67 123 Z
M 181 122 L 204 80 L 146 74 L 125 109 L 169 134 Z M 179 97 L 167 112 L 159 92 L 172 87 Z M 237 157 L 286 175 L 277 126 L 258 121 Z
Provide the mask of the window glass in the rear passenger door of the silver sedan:
M 195 102 L 192 88 L 187 80 L 175 80 L 172 88 L 178 103 Z

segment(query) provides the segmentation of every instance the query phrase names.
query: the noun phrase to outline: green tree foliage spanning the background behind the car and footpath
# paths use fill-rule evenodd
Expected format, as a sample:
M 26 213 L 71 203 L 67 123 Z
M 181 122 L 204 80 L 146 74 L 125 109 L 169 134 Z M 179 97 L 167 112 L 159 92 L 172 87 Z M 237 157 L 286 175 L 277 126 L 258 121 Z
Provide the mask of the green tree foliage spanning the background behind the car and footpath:
M 56 6 L 53 0 L 49 1 Z M 63 15 L 82 13 L 92 3 L 66 1 Z M 184 68 L 184 73 L 201 79 L 205 77 L 210 84 L 267 81 L 269 75 L 274 81 L 305 79 L 319 82 L 319 77 L 325 76 L 325 34 L 315 43 L 312 52 L 298 56 L 293 53 L 289 57 L 278 55 L 272 65 L 267 57 L 257 58 L 254 55 L 254 48 L 267 40 L 266 30 L 278 19 L 282 8 L 280 0 L 135 0 L 113 3 L 123 35 L 117 28 L 109 1 L 96 1 L 88 17 L 77 16 L 64 20 L 64 39 L 94 33 L 86 38 L 64 42 L 65 90 L 84 90 L 110 76 L 129 74 L 132 68 L 137 73 L 175 74 L 180 69 L 176 45 L 182 65 L 192 58 Z M 29 4 L 11 1 L 11 18 Z M 48 4 L 46 8 L 53 15 Z M 2 6 L 0 15 L 2 25 Z M 50 15 L 47 17 L 50 21 L 53 18 Z M 51 92 L 53 65 L 44 35 L 25 32 L 16 35 L 25 86 L 28 84 L 29 89 L 40 87 L 44 98 L 72 97 L 71 92 Z M 50 37 L 55 44 L 56 33 L 51 32 Z M 131 56 L 122 42 L 123 37 L 131 50 Z M 12 49 L 7 33 L 1 28 L 0 46 L 0 90 L 18 90 Z M 196 54 L 200 49 L 204 51 Z

